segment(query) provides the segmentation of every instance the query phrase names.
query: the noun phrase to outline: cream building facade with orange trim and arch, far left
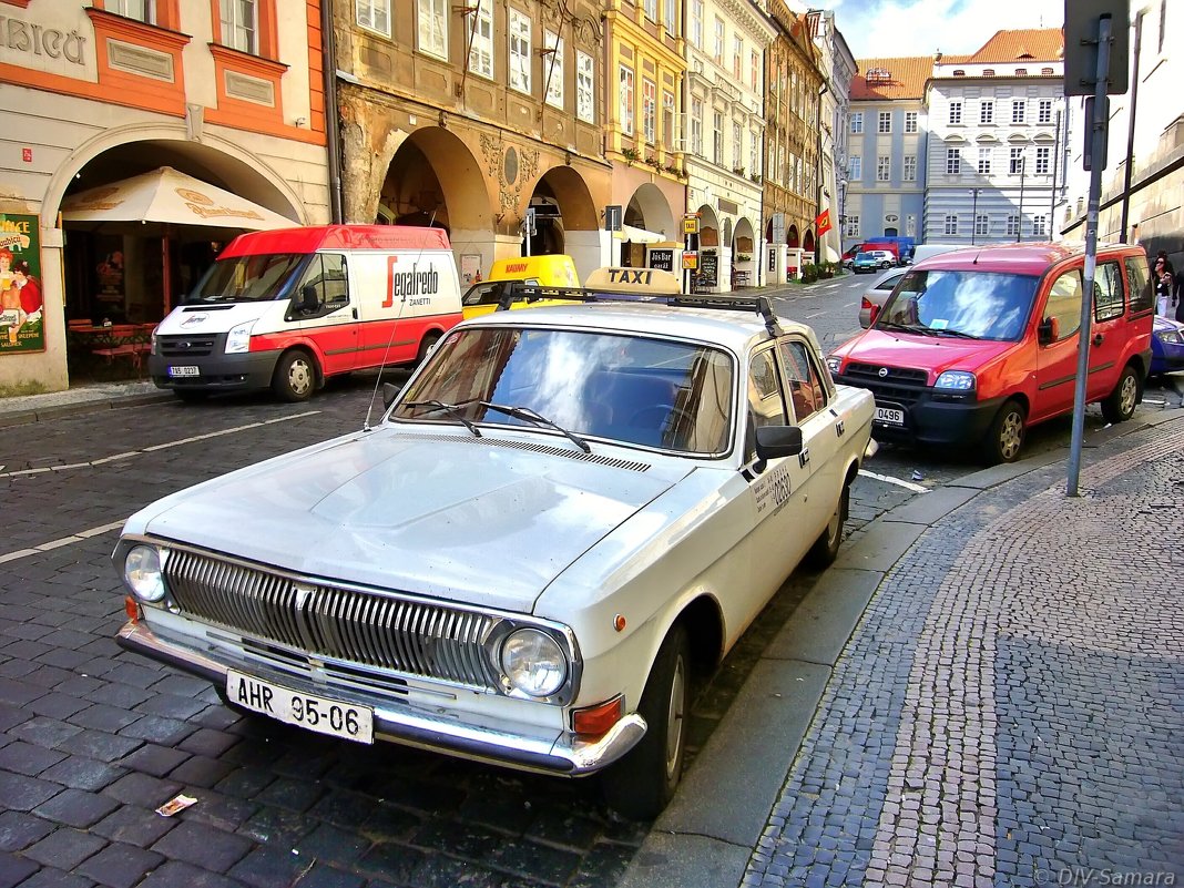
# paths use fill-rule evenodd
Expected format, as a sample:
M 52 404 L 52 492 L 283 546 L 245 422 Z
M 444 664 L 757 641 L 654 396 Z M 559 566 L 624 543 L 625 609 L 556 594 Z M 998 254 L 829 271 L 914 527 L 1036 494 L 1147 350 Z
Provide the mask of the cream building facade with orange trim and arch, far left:
M 85 355 L 67 318 L 150 324 L 233 234 L 328 221 L 315 0 L 20 0 L 4 24 L 0 260 L 27 263 L 40 304 L 28 310 L 27 287 L 5 296 L 21 305 L 0 310 L 0 391 L 69 386 Z M 192 181 L 169 191 L 165 169 Z M 129 218 L 116 205 L 140 174 L 173 211 Z

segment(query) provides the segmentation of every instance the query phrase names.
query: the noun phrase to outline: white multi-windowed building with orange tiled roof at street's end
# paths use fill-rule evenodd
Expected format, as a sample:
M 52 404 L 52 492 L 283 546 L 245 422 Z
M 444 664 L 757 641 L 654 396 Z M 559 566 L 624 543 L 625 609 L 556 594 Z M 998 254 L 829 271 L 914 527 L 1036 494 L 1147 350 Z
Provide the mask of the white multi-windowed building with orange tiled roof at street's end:
M 959 245 L 1051 240 L 1063 178 L 1058 28 L 999 31 L 978 52 L 934 57 L 922 234 Z

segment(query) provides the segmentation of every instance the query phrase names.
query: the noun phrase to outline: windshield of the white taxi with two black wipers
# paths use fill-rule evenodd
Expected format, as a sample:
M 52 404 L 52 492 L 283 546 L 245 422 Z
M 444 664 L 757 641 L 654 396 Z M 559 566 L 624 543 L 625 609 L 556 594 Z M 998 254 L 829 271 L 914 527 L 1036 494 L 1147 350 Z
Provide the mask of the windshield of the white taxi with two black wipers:
M 469 327 L 440 341 L 391 419 L 542 427 L 504 410 L 515 407 L 593 442 L 720 455 L 729 445 L 733 378 L 728 354 L 702 345 Z

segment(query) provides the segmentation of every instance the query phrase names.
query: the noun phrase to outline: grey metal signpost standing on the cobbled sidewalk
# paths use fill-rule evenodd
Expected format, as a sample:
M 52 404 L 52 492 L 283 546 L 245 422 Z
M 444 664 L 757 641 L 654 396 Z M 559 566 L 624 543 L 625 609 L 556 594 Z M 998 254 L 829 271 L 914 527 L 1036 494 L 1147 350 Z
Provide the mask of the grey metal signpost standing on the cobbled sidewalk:
M 1125 27 L 1125 22 L 1124 22 Z M 1102 153 L 1106 150 L 1106 81 L 1109 77 L 1111 17 L 1098 19 L 1098 79 L 1094 83 L 1094 131 L 1090 134 L 1089 210 L 1086 213 L 1085 288 L 1081 291 L 1081 328 L 1077 330 L 1077 381 L 1073 392 L 1073 438 L 1066 494 L 1077 496 L 1081 443 L 1086 429 L 1086 377 L 1089 373 L 1089 321 L 1093 317 L 1094 272 L 1098 269 L 1098 204 L 1102 193 Z

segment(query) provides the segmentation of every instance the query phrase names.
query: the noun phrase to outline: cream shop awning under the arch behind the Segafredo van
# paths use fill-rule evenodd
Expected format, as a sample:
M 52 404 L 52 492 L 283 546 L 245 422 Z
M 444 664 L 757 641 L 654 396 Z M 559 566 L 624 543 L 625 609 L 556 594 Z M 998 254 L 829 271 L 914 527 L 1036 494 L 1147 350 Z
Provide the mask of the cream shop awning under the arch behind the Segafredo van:
M 300 224 L 172 167 L 71 194 L 62 201 L 62 218 L 70 223 L 146 221 L 247 231 Z

